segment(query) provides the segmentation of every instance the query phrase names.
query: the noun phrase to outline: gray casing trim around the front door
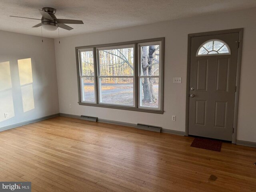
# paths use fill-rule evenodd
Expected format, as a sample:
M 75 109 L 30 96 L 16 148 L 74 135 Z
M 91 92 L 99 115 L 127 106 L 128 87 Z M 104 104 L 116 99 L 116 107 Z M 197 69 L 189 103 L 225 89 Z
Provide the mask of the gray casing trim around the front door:
M 238 100 L 239 100 L 239 90 L 240 90 L 240 71 L 241 71 L 241 61 L 242 61 L 242 39 L 243 39 L 243 28 L 230 29 L 230 30 L 220 30 L 212 32 L 202 32 L 188 34 L 188 62 L 187 62 L 187 81 L 186 81 L 186 127 L 185 136 L 188 136 L 189 129 L 189 93 L 190 93 L 190 58 L 191 58 L 191 38 L 199 36 L 209 36 L 218 34 L 228 34 L 228 33 L 239 33 L 238 38 L 238 56 L 237 56 L 237 70 L 236 70 L 236 92 L 235 92 L 235 105 L 234 105 L 234 120 L 233 120 L 233 134 L 232 143 L 236 144 L 236 131 L 237 131 L 237 116 L 238 116 Z

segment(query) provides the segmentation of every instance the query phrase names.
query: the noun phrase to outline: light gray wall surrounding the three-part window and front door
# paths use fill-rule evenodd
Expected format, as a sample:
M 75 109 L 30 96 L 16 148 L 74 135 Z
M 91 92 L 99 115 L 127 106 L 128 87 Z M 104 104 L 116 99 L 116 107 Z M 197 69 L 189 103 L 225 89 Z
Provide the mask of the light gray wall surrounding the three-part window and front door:
M 238 140 L 256 142 L 256 9 L 184 18 L 143 26 L 82 34 L 55 39 L 60 113 L 97 116 L 102 119 L 162 126 L 185 131 L 187 40 L 189 33 L 244 28 L 241 86 L 238 111 Z M 164 114 L 78 105 L 76 46 L 107 44 L 165 37 Z M 182 77 L 182 84 L 173 84 Z M 72 104 L 72 108 L 69 107 Z M 176 121 L 171 116 L 176 115 Z

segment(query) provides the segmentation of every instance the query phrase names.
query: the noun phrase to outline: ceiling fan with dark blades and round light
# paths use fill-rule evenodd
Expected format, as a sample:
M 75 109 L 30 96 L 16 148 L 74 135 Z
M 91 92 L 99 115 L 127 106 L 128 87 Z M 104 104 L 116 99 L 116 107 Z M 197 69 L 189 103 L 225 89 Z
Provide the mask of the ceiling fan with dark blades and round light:
M 56 16 L 54 15 L 56 13 L 56 9 L 54 8 L 44 7 L 42 8 L 42 10 L 39 10 L 39 12 L 42 15 L 42 18 L 36 19 L 36 20 L 41 20 L 41 22 L 32 27 L 42 26 L 42 28 L 48 31 L 54 31 L 58 27 L 66 30 L 72 30 L 73 29 L 72 27 L 67 26 L 65 24 L 84 24 L 81 20 L 57 19 Z M 10 16 L 10 17 L 19 17 L 19 16 Z M 28 17 L 19 17 L 19 18 L 35 19 L 35 18 L 28 18 Z

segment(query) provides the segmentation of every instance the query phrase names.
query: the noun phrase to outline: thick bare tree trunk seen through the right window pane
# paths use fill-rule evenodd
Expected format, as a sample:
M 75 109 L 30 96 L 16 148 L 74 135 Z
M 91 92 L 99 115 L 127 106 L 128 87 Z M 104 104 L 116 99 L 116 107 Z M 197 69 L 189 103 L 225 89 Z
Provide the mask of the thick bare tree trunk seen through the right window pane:
M 144 76 L 152 75 L 152 64 L 154 61 L 155 52 L 155 46 L 149 46 L 149 53 L 146 47 L 142 47 L 142 72 Z M 142 83 L 144 94 L 143 101 L 151 103 L 156 102 L 153 83 L 153 78 L 144 78 L 144 82 Z

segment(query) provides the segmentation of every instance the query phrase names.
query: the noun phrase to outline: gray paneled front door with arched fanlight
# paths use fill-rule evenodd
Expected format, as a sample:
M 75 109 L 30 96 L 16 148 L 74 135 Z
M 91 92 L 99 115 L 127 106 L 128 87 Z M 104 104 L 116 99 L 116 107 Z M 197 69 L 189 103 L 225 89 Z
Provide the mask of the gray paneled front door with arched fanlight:
M 191 38 L 188 134 L 232 140 L 238 33 Z

